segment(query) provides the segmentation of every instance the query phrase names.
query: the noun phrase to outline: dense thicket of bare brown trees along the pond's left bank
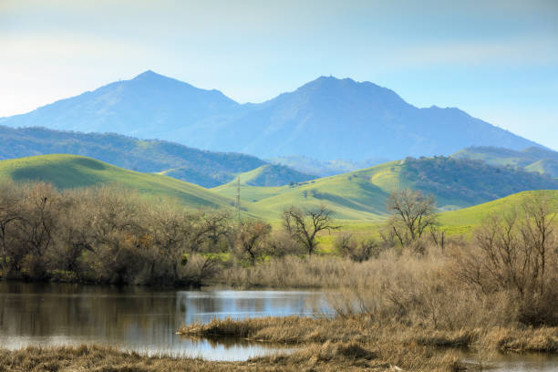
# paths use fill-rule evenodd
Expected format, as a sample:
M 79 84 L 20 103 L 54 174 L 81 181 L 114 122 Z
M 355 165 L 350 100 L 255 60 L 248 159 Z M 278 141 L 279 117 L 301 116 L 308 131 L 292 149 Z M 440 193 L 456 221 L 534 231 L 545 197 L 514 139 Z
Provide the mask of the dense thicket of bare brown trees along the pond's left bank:
M 230 219 L 129 191 L 0 185 L 0 274 L 110 284 L 200 284 L 233 244 Z

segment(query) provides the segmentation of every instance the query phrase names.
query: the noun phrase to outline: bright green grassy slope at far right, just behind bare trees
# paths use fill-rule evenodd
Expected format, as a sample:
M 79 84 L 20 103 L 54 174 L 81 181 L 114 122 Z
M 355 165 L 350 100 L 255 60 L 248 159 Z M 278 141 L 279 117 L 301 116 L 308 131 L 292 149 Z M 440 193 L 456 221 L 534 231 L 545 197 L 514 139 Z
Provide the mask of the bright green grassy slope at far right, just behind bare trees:
M 548 198 L 552 203 L 551 207 L 553 210 L 558 212 L 558 191 L 522 191 L 492 202 L 485 202 L 459 211 L 440 213 L 439 222 L 442 226 L 474 227 L 480 225 L 491 213 L 501 215 L 502 213 L 512 212 L 513 210 L 521 212 L 522 203 L 535 195 Z

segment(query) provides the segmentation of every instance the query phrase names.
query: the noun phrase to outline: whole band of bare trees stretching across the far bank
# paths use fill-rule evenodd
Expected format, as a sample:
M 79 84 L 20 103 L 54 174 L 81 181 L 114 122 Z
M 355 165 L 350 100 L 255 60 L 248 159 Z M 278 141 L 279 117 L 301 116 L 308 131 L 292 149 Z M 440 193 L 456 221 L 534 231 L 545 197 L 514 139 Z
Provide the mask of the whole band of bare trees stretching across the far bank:
M 358 265 L 381 261 L 384 254 L 407 252 L 422 260 L 436 252 L 452 275 L 444 280 L 457 281 L 474 298 L 503 295 L 515 306 L 517 320 L 558 324 L 558 209 L 544 193 L 533 195 L 539 196 L 518 210 L 492 215 L 472 239 L 444 249 L 434 199 L 397 191 L 388 200 L 392 213 L 381 227 L 383 240 L 336 234 L 337 253 Z M 340 227 L 325 206 L 291 207 L 282 217 L 283 228 L 274 230 L 267 222 L 190 211 L 117 188 L 60 192 L 45 183 L 5 182 L 0 184 L 0 276 L 201 285 L 230 265 L 257 271 L 253 266 L 270 258 L 310 257 L 320 236 Z M 395 246 L 401 249 L 388 252 Z

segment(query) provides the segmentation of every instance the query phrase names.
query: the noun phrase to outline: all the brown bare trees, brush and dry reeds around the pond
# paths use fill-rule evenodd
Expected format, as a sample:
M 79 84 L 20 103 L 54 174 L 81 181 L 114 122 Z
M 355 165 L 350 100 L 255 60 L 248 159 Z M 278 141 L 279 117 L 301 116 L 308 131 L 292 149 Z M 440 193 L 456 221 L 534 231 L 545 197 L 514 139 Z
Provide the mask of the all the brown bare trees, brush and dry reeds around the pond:
M 304 346 L 293 355 L 258 358 L 253 363 L 260 369 L 457 370 L 457 355 L 436 354 L 432 347 L 558 350 L 557 211 L 542 199 L 491 216 L 472 240 L 458 237 L 440 244 L 435 233 L 426 233 L 435 225 L 431 202 L 408 193 L 394 207 L 399 217 L 391 222 L 405 237 L 398 246 L 342 236 L 338 255 L 320 256 L 311 254 L 316 234 L 336 228 L 325 207 L 315 214 L 289 210 L 284 231 L 272 232 L 264 222 L 237 224 L 226 214 L 189 212 L 108 188 L 59 193 L 40 183 L 1 187 L 5 277 L 327 289 L 334 314 L 216 320 L 181 329 L 189 335 Z M 59 352 L 69 353 L 68 363 L 75 366 L 87 363 L 75 350 Z M 123 366 L 136 357 L 107 349 L 98 353 L 109 353 Z M 137 363 L 147 360 L 137 358 Z M 204 365 L 209 362 L 163 359 L 149 363 L 214 365 L 208 370 L 253 367 L 250 362 Z

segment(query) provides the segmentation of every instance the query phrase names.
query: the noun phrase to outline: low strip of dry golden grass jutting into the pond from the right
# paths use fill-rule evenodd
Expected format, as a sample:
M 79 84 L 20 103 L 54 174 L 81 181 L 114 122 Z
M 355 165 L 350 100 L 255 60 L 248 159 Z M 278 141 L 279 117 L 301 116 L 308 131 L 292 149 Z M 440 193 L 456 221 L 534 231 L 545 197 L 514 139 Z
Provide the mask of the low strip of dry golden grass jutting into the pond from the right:
M 249 340 L 285 344 L 356 343 L 364 348 L 398 354 L 400 349 L 432 346 L 470 347 L 482 351 L 558 353 L 558 327 L 460 328 L 432 330 L 398 322 L 380 322 L 369 315 L 309 318 L 298 316 L 214 319 L 208 324 L 183 325 L 182 335 L 239 336 Z M 439 350 L 440 351 L 440 350 Z M 399 362 L 405 365 L 404 362 Z

